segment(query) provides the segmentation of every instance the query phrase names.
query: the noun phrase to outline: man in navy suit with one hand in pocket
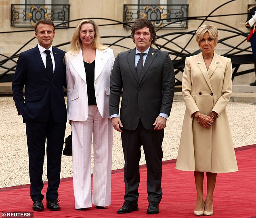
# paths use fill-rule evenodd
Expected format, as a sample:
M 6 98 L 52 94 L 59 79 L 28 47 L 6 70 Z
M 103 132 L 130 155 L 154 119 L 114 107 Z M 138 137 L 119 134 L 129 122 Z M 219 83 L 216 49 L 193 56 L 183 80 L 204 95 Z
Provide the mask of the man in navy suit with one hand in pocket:
M 60 210 L 58 188 L 67 122 L 63 95 L 63 86 L 66 86 L 66 69 L 63 64 L 65 51 L 52 47 L 55 25 L 50 19 L 36 23 L 35 36 L 38 45 L 19 55 L 13 78 L 13 99 L 18 114 L 26 123 L 30 197 L 34 202 L 32 209 L 44 209 L 42 173 L 46 141 L 46 208 Z

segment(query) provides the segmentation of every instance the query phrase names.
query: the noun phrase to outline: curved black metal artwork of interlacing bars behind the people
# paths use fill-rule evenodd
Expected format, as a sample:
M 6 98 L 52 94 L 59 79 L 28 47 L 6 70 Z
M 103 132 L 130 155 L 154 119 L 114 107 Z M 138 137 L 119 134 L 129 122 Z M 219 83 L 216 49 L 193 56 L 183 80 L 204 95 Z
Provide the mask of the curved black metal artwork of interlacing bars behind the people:
M 254 72 L 254 64 L 253 64 L 254 58 L 252 55 L 251 46 L 250 46 L 250 43 L 248 43 L 246 41 L 246 38 L 247 38 L 249 32 L 243 32 L 239 29 L 236 29 L 232 26 L 227 25 L 226 23 L 221 23 L 217 20 L 214 20 L 216 17 L 219 17 L 219 16 L 222 16 L 222 17 L 232 16 L 233 17 L 233 16 L 240 16 L 242 14 L 212 15 L 213 12 L 217 11 L 222 6 L 229 4 L 230 2 L 233 2 L 233 1 L 235 1 L 235 0 L 230 0 L 229 2 L 226 2 L 226 3 L 218 6 L 207 16 L 183 17 L 183 18 L 180 18 L 179 20 L 170 19 L 171 22 L 163 23 L 161 25 L 161 27 L 157 28 L 157 30 L 156 30 L 157 42 L 156 42 L 155 46 L 158 49 L 166 50 L 170 53 L 170 56 L 171 56 L 173 64 L 174 64 L 175 74 L 176 74 L 176 76 L 175 76 L 176 85 L 181 84 L 180 73 L 183 72 L 185 58 L 188 56 L 191 56 L 191 55 L 195 55 L 200 52 L 199 49 L 191 50 L 191 47 L 190 47 L 191 42 L 193 42 L 193 43 L 195 42 L 196 29 L 191 30 L 191 31 L 185 31 L 185 30 L 184 31 L 179 30 L 179 31 L 175 31 L 175 32 L 172 31 L 170 33 L 166 33 L 166 34 L 162 34 L 162 35 L 159 33 L 160 33 L 161 29 L 168 27 L 168 25 L 173 25 L 177 22 L 183 22 L 183 21 L 187 22 L 188 20 L 201 21 L 199 26 L 203 25 L 205 21 L 208 21 L 208 23 L 211 23 L 213 25 L 218 24 L 218 26 L 220 26 L 220 25 L 222 26 L 222 28 L 218 29 L 219 35 L 225 35 L 225 37 L 219 38 L 218 43 L 222 44 L 222 47 L 224 47 L 225 49 L 222 50 L 223 53 L 220 53 L 220 55 L 229 57 L 232 60 L 232 67 L 233 67 L 232 80 L 235 76 Z M 125 9 L 125 7 L 124 7 L 124 9 Z M 153 9 L 154 8 L 147 8 L 147 10 L 151 10 L 151 11 L 153 11 Z M 128 10 L 124 10 L 124 13 L 126 13 L 126 15 L 130 14 L 130 12 Z M 158 13 L 158 9 L 156 10 L 156 8 L 155 8 L 155 13 Z M 246 20 L 246 14 L 247 13 L 243 13 L 243 15 L 245 15 L 245 20 Z M 104 18 L 90 18 L 90 19 L 93 19 L 96 21 L 98 20 L 99 21 L 98 23 L 100 23 L 101 20 L 104 20 L 104 23 L 108 23 L 108 24 L 104 24 L 104 25 L 99 25 L 100 27 L 103 27 L 103 26 L 111 27 L 111 26 L 115 26 L 115 25 L 131 26 L 133 23 L 132 16 L 130 16 L 130 18 L 129 18 L 129 16 L 126 16 L 126 18 L 128 19 L 126 23 L 122 23 L 120 21 L 115 21 L 115 20 L 111 20 L 111 19 L 104 19 Z M 166 18 L 168 18 L 168 16 L 166 16 Z M 78 21 L 78 20 L 82 20 L 82 19 L 85 19 L 85 18 L 69 21 L 69 23 L 72 23 L 72 22 Z M 166 20 L 166 19 L 164 19 L 164 20 Z M 152 22 L 154 22 L 155 24 L 157 22 L 161 23 L 162 21 L 163 21 L 163 19 L 152 20 Z M 58 25 L 56 26 L 56 28 L 58 29 Z M 73 26 L 73 27 L 69 27 L 69 28 L 75 28 L 75 27 Z M 2 34 L 4 34 L 4 33 L 2 33 Z M 182 39 L 183 37 L 185 37 L 187 39 L 185 45 L 181 45 L 181 43 L 180 43 L 181 41 L 183 41 L 183 42 L 185 41 L 184 39 Z M 16 60 L 17 60 L 20 50 L 23 49 L 24 47 L 26 47 L 26 45 L 30 41 L 33 41 L 34 39 L 35 39 L 34 37 L 31 38 L 29 41 L 27 41 L 27 43 L 25 43 L 25 45 L 23 45 L 20 49 L 18 49 L 10 57 L 0 54 L 0 70 L 1 70 L 1 72 L 3 72 L 2 74 L 0 74 L 0 82 L 12 81 L 13 73 L 14 73 L 15 67 L 16 67 Z M 120 47 L 122 47 L 124 49 L 132 48 L 132 47 L 128 47 L 128 45 L 132 45 L 130 43 L 130 41 L 131 41 L 130 35 L 102 36 L 102 40 L 105 45 L 107 45 L 113 49 L 120 48 Z M 67 45 L 67 44 L 69 44 L 69 42 L 63 42 L 59 45 L 56 45 L 56 47 L 61 47 L 63 45 Z M 250 65 L 248 65 L 249 66 L 248 70 L 240 70 L 240 66 L 244 65 L 244 64 L 250 64 Z

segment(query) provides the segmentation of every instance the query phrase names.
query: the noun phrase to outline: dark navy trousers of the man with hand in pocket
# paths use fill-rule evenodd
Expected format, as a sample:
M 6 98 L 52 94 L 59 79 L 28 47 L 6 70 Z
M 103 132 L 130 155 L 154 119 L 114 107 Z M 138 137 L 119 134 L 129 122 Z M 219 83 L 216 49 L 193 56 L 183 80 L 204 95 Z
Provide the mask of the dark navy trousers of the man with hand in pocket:
M 43 199 L 42 181 L 45 140 L 47 156 L 48 188 L 46 200 L 58 198 L 61 173 L 61 155 L 64 143 L 66 123 L 56 123 L 52 117 L 45 123 L 26 120 L 27 147 L 29 154 L 30 197 Z

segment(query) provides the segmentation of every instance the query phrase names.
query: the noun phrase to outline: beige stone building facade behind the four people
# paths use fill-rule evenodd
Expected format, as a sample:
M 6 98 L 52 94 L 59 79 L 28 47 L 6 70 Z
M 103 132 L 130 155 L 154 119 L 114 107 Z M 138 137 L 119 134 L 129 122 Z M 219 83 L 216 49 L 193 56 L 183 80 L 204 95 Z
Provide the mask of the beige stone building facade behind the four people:
M 198 51 L 194 33 L 200 25 L 212 24 L 219 29 L 216 52 L 219 54 L 251 53 L 246 41 L 249 30 L 244 23 L 248 5 L 254 0 L 0 0 L 0 60 L 34 47 L 34 23 L 43 16 L 54 19 L 54 46 L 68 51 L 74 27 L 84 18 L 91 18 L 100 25 L 101 41 L 109 45 L 115 56 L 120 51 L 133 48 L 130 25 L 137 17 L 155 21 L 157 47 L 168 50 L 173 60 Z M 176 6 L 179 5 L 179 6 Z M 176 7 L 176 8 L 175 8 Z M 189 19 L 187 19 L 189 18 Z M 125 24 L 124 24 L 125 23 Z M 234 37 L 232 37 L 234 36 Z M 236 47 L 237 49 L 233 49 Z M 244 50 L 244 51 L 243 51 Z M 17 57 L 13 60 L 17 60 Z M 14 62 L 5 62 L 11 68 Z M 244 64 L 239 70 L 254 68 Z M 0 74 L 6 69 L 0 68 Z M 181 80 L 182 74 L 176 78 Z M 255 80 L 255 73 L 236 76 L 233 84 L 248 85 Z

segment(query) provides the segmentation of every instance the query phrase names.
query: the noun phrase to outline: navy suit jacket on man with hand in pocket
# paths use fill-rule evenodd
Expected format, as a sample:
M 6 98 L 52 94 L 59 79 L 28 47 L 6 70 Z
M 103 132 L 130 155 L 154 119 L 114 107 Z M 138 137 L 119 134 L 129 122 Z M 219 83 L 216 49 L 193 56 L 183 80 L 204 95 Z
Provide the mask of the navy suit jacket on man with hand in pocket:
M 52 79 L 46 72 L 38 46 L 19 55 L 13 78 L 13 99 L 18 114 L 25 120 L 46 122 L 52 115 L 55 122 L 67 121 L 63 94 L 63 86 L 66 86 L 65 51 L 52 47 L 52 53 L 55 60 Z

